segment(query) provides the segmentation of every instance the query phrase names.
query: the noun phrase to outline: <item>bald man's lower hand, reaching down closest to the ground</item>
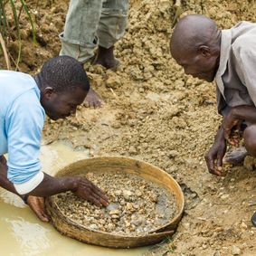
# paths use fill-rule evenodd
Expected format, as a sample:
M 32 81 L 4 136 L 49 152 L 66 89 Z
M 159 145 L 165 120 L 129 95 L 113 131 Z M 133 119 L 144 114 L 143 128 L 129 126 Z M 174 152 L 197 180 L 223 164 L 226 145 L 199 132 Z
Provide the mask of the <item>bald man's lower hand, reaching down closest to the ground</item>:
M 220 128 L 214 140 L 213 147 L 204 156 L 209 173 L 222 176 L 223 156 L 226 153 L 226 141 L 223 128 Z M 216 163 L 215 163 L 216 162 Z

